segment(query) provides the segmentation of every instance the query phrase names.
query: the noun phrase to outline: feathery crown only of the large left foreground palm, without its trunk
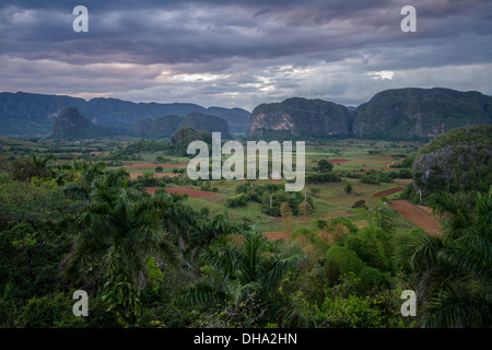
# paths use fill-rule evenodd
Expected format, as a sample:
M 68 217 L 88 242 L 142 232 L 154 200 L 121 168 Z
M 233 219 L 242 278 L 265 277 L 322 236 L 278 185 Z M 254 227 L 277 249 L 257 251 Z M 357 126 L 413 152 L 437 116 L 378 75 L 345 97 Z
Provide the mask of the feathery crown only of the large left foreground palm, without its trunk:
M 141 287 L 151 256 L 173 257 L 160 218 L 161 203 L 154 197 L 141 198 L 132 189 L 112 188 L 104 182 L 94 183 L 91 199 L 70 223 L 75 236 L 67 273 L 93 269 L 104 278 L 122 273 Z

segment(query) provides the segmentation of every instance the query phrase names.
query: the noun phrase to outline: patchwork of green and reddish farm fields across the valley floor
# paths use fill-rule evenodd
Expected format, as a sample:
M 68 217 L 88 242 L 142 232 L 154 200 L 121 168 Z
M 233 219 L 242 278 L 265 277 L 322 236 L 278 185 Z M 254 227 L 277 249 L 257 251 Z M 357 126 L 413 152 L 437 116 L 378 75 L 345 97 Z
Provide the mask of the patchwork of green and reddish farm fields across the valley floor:
M 132 180 L 142 178 L 165 180 L 160 186 L 155 183 L 152 186 L 144 186 L 149 194 L 154 194 L 159 189 L 167 192 L 186 195 L 188 203 L 195 210 L 207 208 L 211 215 L 225 214 L 235 222 L 249 222 L 258 225 L 266 235 L 276 237 L 272 233 L 282 231 L 282 219 L 270 217 L 261 211 L 261 205 L 248 201 L 246 206 L 230 208 L 226 206 L 227 199 L 237 195 L 237 186 L 263 186 L 265 184 L 283 184 L 283 180 L 210 180 L 208 189 L 203 190 L 202 184 L 176 184 L 168 183 L 173 178 L 184 177 L 181 172 L 190 159 L 168 154 L 164 150 L 143 150 L 133 156 L 121 159 L 117 150 L 134 142 L 134 139 L 105 139 L 85 141 L 54 141 L 39 142 L 36 140 L 0 139 L 0 150 L 3 154 L 22 154 L 30 151 L 49 152 L 55 151 L 58 156 L 57 163 L 69 164 L 72 159 L 85 159 L 94 162 L 105 162 L 108 168 L 120 168 L 129 173 Z M 389 200 L 398 198 L 405 187 L 411 183 L 408 178 L 394 178 L 390 183 L 366 184 L 356 178 L 366 172 L 396 172 L 390 165 L 399 163 L 406 156 L 411 156 L 420 144 L 412 142 L 390 142 L 377 140 L 329 140 L 325 142 L 306 143 L 306 175 L 315 173 L 317 162 L 328 160 L 332 165 L 332 172 L 341 176 L 339 183 L 306 184 L 303 196 L 311 198 L 313 212 L 309 220 L 295 223 L 295 225 L 307 225 L 316 219 L 327 219 L 333 215 L 343 215 L 363 226 L 364 220 L 358 220 L 356 209 L 352 206 L 356 201 L 364 201 L 368 209 L 380 201 L 380 198 Z M 12 155 L 10 155 L 12 156 Z M 225 158 L 223 158 L 225 159 Z M 295 155 L 293 156 L 295 162 Z M 271 158 L 269 158 L 271 161 Z M 351 176 L 351 177 L 348 177 Z M 202 182 L 204 183 L 204 182 Z M 350 194 L 344 191 L 344 186 L 350 184 Z M 400 208 L 401 205 L 397 206 Z M 395 209 L 397 209 L 395 208 Z M 397 210 L 398 211 L 398 210 Z M 400 213 L 401 211 L 401 213 Z M 425 220 L 413 220 L 415 212 L 410 215 L 408 211 L 400 210 L 398 222 L 403 228 L 421 226 L 425 230 L 434 230 L 423 224 Z M 432 218 L 431 218 L 432 219 Z M 434 219 L 433 219 L 434 220 Z M 433 228 L 435 226 L 435 222 Z M 279 236 L 279 235 L 278 235 Z

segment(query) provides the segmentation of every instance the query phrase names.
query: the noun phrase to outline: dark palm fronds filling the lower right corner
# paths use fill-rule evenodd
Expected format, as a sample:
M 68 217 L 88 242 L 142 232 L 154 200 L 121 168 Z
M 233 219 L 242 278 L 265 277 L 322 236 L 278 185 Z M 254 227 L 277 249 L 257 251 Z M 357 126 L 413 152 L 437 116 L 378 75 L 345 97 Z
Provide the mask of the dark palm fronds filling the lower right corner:
M 423 236 L 405 250 L 403 267 L 421 279 L 423 327 L 492 325 L 492 189 L 475 208 L 449 194 L 432 201 L 444 221 L 440 236 Z

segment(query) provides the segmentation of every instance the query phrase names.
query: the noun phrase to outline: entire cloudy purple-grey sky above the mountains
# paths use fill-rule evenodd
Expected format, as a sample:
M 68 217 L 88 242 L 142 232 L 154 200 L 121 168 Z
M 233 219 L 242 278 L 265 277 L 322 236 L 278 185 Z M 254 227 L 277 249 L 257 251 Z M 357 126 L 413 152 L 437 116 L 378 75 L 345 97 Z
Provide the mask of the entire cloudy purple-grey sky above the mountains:
M 73 31 L 84 5 L 89 32 Z M 403 32 L 405 5 L 417 32 Z M 0 91 L 242 107 L 492 95 L 491 0 L 1 0 Z

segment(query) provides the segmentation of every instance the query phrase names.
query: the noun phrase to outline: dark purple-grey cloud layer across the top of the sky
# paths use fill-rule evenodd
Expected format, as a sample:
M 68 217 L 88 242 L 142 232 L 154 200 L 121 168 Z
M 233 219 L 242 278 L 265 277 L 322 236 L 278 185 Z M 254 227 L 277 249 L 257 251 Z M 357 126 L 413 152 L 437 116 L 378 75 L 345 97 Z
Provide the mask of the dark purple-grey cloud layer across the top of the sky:
M 323 59 L 330 61 L 378 43 L 420 46 L 419 38 L 430 40 L 466 31 L 491 33 L 491 21 L 482 10 L 472 19 L 453 20 L 485 1 L 433 1 L 433 5 L 413 1 L 422 31 L 414 40 L 407 40 L 398 31 L 399 9 L 407 2 L 90 0 L 84 2 L 90 10 L 90 32 L 81 35 L 71 31 L 71 9 L 78 1 L 15 1 L 0 10 L 0 45 L 12 56 L 80 65 L 112 58 L 178 63 L 300 54 L 323 54 Z M 424 31 L 426 27 L 430 31 Z

